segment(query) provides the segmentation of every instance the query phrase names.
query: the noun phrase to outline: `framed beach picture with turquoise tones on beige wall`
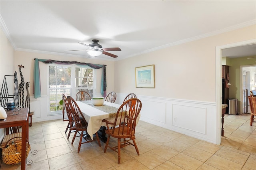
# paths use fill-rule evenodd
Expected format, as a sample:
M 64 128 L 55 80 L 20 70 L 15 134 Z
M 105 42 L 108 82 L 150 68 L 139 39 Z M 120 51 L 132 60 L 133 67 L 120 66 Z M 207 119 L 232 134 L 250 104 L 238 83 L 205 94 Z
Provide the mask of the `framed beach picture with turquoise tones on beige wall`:
M 136 88 L 155 88 L 155 65 L 135 68 Z

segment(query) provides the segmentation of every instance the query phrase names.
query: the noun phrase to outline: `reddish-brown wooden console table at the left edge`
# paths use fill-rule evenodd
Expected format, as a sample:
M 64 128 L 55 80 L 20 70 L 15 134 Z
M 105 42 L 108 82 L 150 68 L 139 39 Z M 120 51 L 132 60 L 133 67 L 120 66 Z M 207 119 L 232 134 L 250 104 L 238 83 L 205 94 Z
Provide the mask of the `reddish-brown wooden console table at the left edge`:
M 22 127 L 21 170 L 26 169 L 26 138 L 28 139 L 28 108 L 21 108 L 18 115 L 13 115 L 15 110 L 7 111 L 7 118 L 0 121 L 0 128 L 5 128 L 9 134 L 9 127 Z M 26 136 L 26 137 L 25 137 Z

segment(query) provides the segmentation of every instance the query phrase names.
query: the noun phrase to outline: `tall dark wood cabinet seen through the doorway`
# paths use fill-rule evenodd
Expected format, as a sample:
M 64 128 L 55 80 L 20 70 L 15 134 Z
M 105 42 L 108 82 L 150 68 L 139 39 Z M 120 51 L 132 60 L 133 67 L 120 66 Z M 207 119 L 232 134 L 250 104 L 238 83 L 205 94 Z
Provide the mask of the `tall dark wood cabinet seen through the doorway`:
M 229 66 L 222 65 L 222 104 L 228 105 L 229 88 L 226 87 L 227 82 L 229 82 Z M 226 108 L 226 113 L 228 113 L 228 107 Z

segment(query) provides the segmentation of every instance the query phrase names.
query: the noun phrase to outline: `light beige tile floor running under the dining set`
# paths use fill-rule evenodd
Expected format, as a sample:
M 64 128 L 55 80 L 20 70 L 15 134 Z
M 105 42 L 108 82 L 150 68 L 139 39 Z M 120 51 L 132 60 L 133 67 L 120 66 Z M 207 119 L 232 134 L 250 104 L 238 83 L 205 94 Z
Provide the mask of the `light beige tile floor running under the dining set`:
M 133 146 L 121 149 L 121 164 L 117 153 L 105 144 L 82 144 L 77 153 L 78 138 L 71 144 L 62 120 L 33 123 L 29 128 L 31 150 L 36 155 L 26 165 L 27 170 L 256 170 L 256 123 L 250 126 L 250 115 L 225 115 L 222 144 L 216 145 L 184 134 L 140 121 L 136 127 L 136 143 L 140 156 Z M 116 139 L 110 144 L 116 144 Z M 20 169 L 20 164 L 1 170 Z

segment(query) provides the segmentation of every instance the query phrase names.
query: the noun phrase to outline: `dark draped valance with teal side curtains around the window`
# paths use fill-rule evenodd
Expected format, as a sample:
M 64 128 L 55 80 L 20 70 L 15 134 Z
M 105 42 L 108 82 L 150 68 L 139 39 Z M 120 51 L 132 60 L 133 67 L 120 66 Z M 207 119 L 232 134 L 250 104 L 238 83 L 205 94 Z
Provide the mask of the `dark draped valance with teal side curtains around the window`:
M 103 97 L 106 97 L 106 89 L 107 89 L 107 81 L 106 81 L 106 65 L 100 64 L 91 64 L 91 63 L 82 63 L 77 61 L 58 61 L 52 59 L 37 59 L 35 58 L 34 64 L 34 96 L 35 98 L 41 97 L 41 85 L 40 85 L 40 69 L 39 69 L 39 61 L 46 63 L 46 64 L 76 64 L 79 67 L 89 66 L 93 69 L 100 69 L 103 68 L 102 79 L 101 79 L 101 94 Z

